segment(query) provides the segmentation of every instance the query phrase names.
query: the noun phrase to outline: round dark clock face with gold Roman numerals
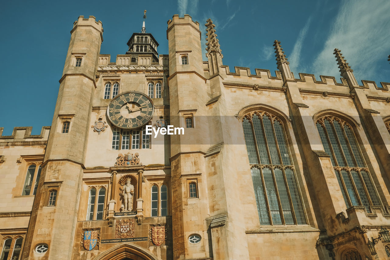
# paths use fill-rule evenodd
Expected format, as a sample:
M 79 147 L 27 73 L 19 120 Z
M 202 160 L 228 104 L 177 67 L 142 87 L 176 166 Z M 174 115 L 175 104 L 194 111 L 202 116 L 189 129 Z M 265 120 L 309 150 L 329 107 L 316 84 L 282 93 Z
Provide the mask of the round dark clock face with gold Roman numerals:
M 152 118 L 153 112 L 152 100 L 138 91 L 128 91 L 116 96 L 107 108 L 111 123 L 127 129 L 144 126 Z

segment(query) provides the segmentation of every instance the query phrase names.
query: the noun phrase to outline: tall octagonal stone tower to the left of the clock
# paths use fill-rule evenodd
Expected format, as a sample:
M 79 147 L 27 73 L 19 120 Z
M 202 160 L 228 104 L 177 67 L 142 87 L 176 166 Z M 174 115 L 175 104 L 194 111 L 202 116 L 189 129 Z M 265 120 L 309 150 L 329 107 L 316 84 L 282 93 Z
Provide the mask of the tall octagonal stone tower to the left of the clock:
M 94 78 L 102 41 L 102 23 L 94 16 L 80 16 L 74 22 L 21 259 L 72 258 L 91 100 L 96 88 Z M 63 129 L 65 125 L 67 130 Z M 47 206 L 51 191 L 56 191 L 56 207 Z M 50 250 L 39 257 L 33 249 L 42 242 Z

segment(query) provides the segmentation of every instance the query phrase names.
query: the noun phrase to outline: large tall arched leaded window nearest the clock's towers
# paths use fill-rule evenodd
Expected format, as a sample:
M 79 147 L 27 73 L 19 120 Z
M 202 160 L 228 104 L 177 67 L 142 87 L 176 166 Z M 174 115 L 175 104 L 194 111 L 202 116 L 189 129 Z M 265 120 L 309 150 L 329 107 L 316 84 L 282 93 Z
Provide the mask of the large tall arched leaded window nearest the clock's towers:
M 260 224 L 306 224 L 282 122 L 256 111 L 242 125 Z

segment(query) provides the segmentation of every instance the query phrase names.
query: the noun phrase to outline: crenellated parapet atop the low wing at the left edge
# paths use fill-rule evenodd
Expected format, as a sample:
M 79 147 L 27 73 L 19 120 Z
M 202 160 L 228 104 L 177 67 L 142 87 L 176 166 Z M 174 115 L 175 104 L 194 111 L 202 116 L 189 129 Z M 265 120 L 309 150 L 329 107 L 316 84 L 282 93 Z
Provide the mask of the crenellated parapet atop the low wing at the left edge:
M 4 127 L 0 127 L 0 143 L 4 142 L 31 142 L 47 141 L 50 132 L 50 126 L 43 126 L 40 135 L 32 135 L 32 126 L 14 127 L 12 135 L 2 135 Z

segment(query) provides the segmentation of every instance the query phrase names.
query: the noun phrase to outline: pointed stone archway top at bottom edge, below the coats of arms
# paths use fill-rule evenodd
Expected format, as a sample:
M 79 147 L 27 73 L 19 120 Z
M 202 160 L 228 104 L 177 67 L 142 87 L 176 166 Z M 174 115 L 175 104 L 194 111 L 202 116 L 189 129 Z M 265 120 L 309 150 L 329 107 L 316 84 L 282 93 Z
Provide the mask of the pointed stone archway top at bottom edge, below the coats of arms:
M 144 248 L 133 244 L 120 244 L 108 249 L 94 260 L 160 260 Z

